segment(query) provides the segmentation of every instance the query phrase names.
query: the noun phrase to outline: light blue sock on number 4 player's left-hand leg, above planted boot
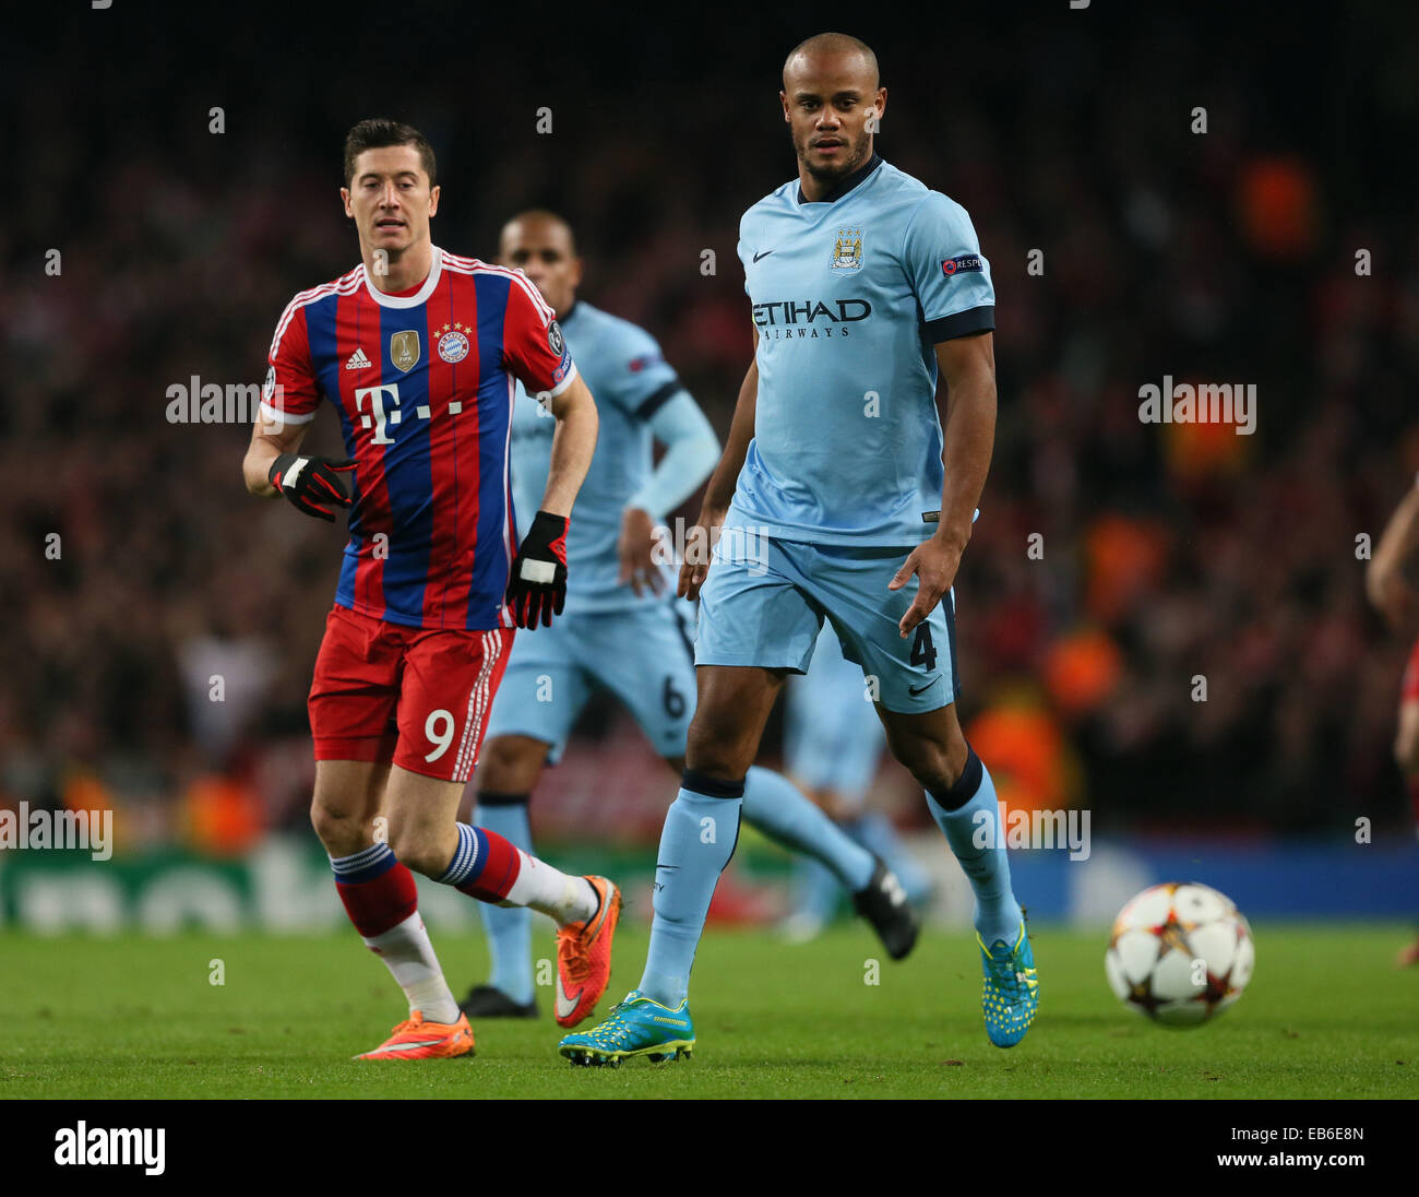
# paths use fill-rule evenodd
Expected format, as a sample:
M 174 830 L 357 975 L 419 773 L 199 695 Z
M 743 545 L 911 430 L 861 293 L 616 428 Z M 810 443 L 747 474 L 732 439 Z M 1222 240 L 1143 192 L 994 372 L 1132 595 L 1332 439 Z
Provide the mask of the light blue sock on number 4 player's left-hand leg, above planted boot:
M 690 968 L 705 929 L 714 887 L 739 842 L 744 782 L 717 781 L 685 770 L 666 811 L 656 858 L 656 917 L 640 991 L 671 1008 L 690 991 Z

